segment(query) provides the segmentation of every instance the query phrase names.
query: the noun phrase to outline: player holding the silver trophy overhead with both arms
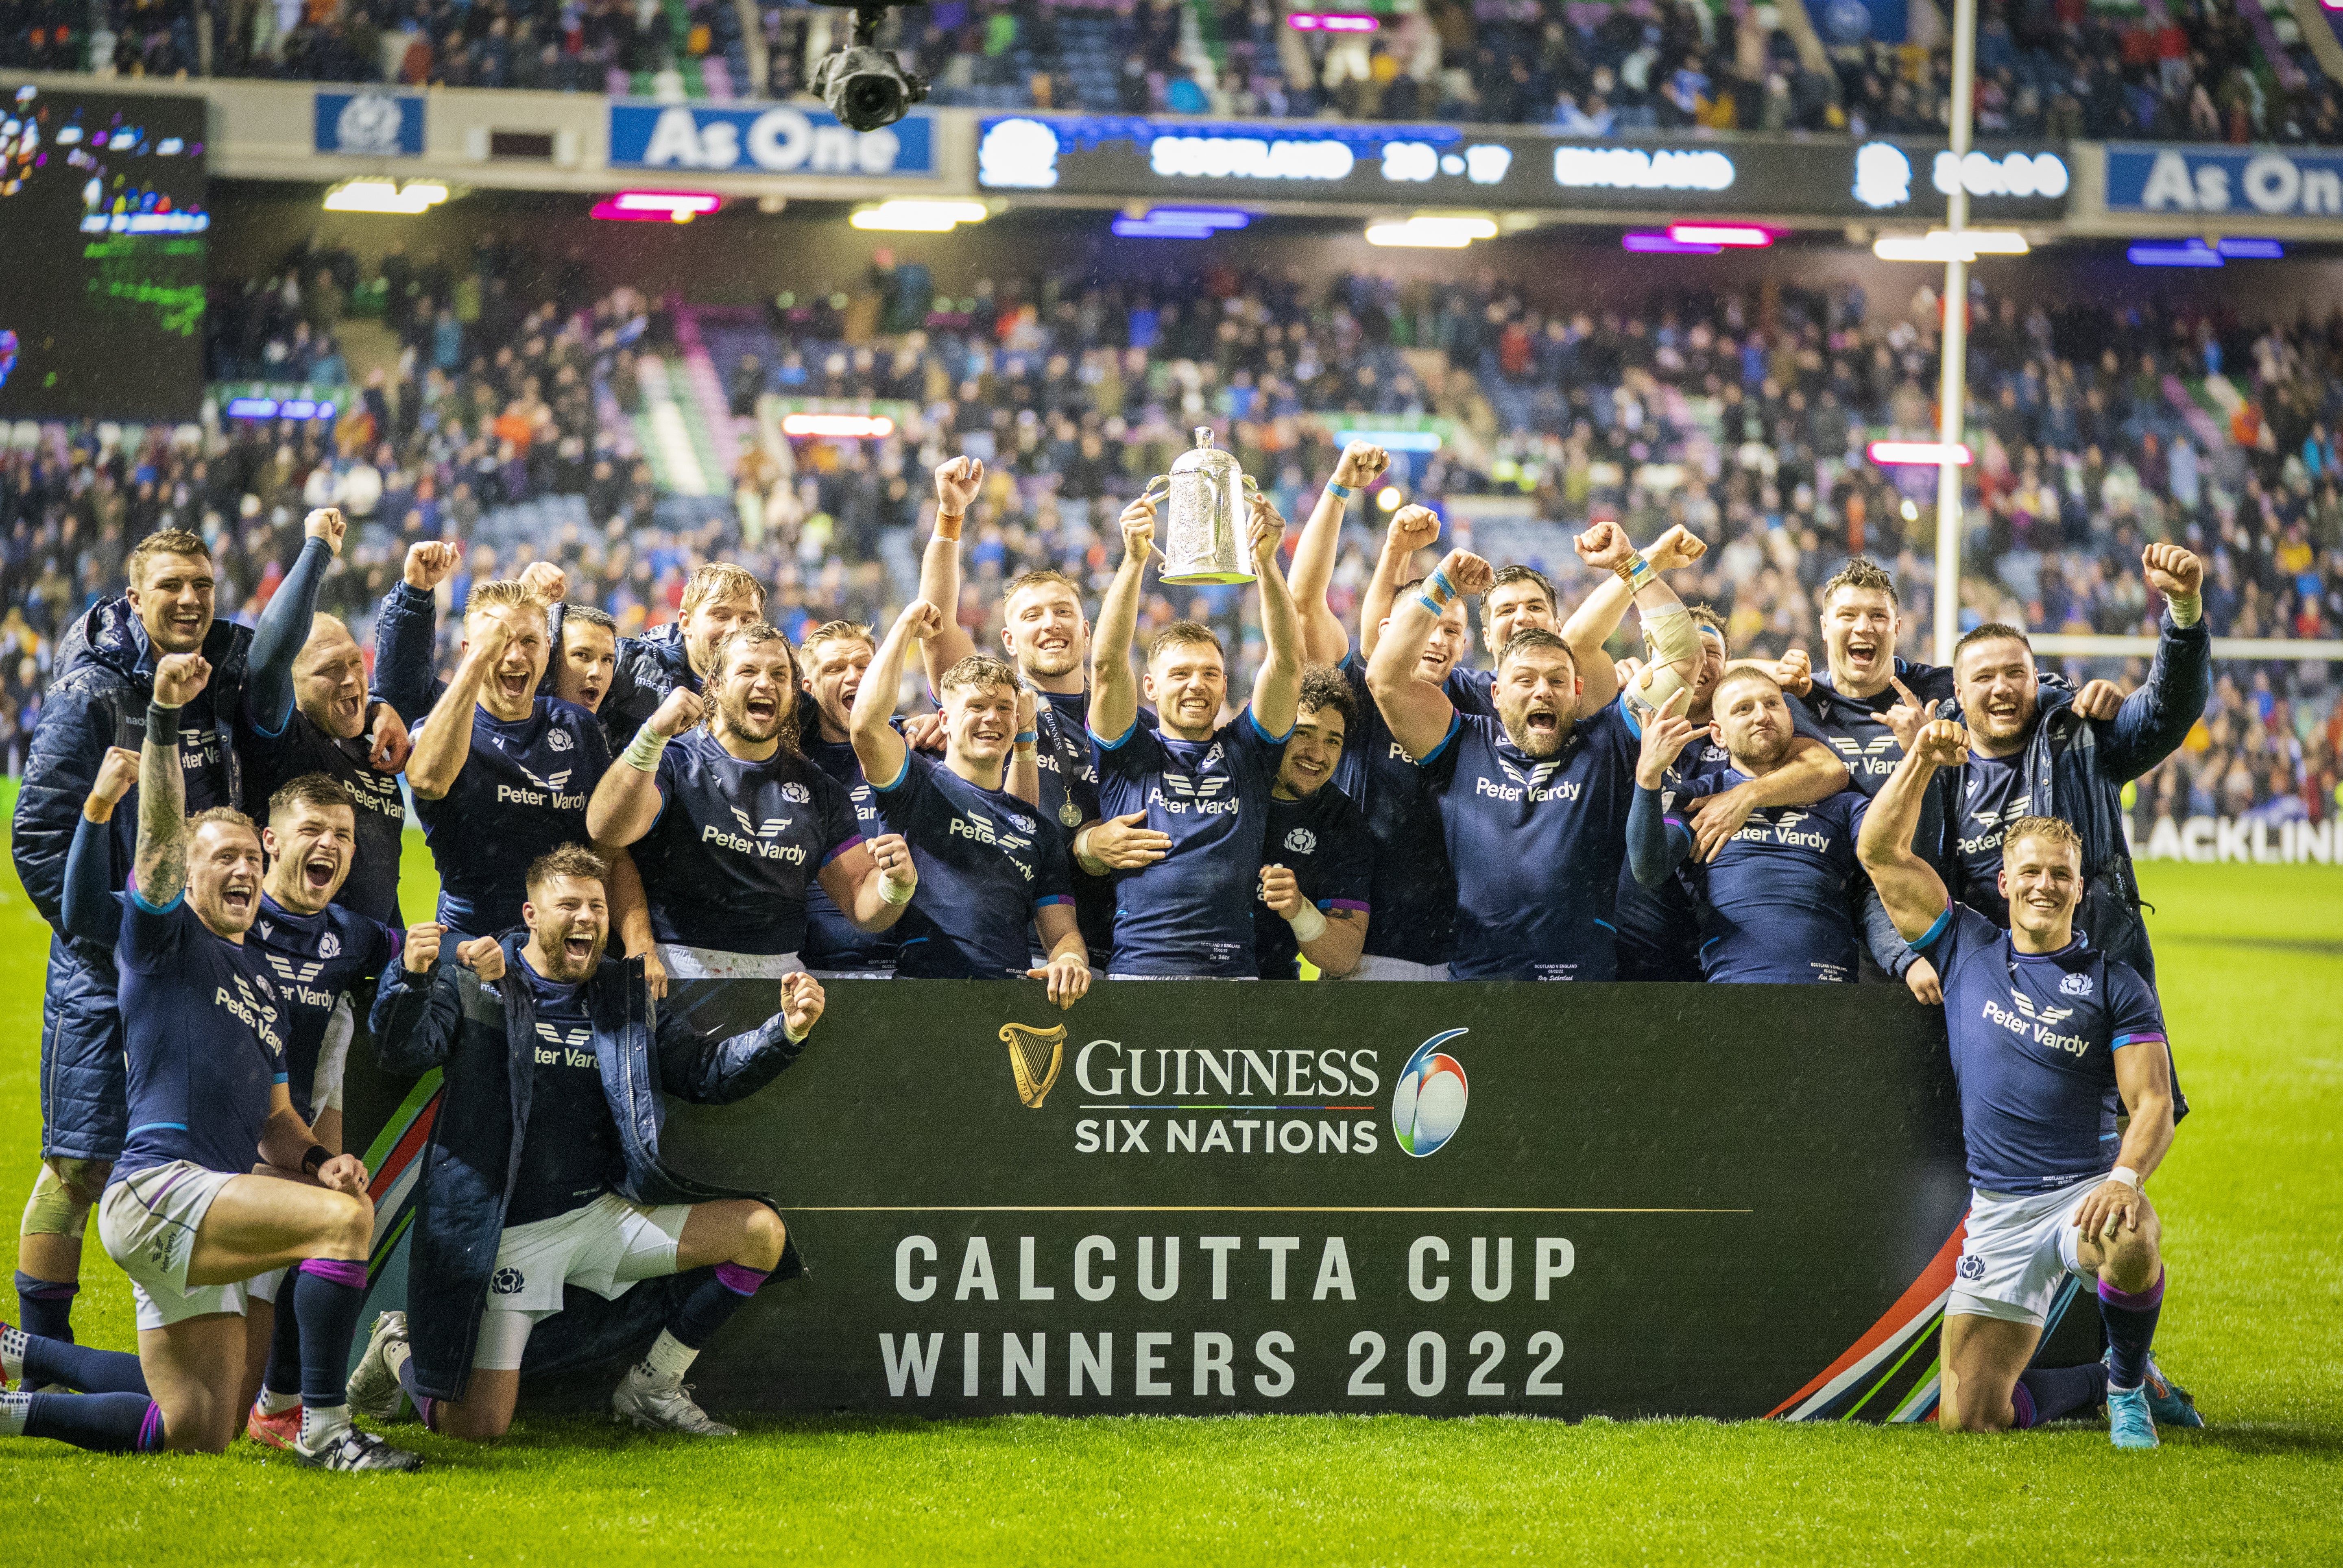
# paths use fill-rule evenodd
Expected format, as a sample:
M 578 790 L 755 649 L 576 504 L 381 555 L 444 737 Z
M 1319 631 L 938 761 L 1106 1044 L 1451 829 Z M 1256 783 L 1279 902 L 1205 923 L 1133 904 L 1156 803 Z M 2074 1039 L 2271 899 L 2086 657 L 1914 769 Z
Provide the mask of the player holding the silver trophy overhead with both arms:
M 1115 959 L 1108 980 L 1254 980 L 1254 895 L 1261 886 L 1270 783 L 1293 734 L 1303 684 L 1300 621 L 1277 570 L 1286 525 L 1254 497 L 1251 560 L 1261 591 L 1261 670 L 1254 701 L 1228 724 L 1228 659 L 1197 621 L 1174 621 L 1148 647 L 1146 696 L 1157 727 L 1139 722 L 1132 638 L 1155 539 L 1155 504 L 1122 511 L 1122 565 L 1099 607 L 1092 659 L 1089 741 L 1099 766 L 1101 816 L 1143 811 L 1146 827 L 1172 839 L 1141 870 L 1108 867 L 1092 848 L 1085 870 L 1113 870 Z

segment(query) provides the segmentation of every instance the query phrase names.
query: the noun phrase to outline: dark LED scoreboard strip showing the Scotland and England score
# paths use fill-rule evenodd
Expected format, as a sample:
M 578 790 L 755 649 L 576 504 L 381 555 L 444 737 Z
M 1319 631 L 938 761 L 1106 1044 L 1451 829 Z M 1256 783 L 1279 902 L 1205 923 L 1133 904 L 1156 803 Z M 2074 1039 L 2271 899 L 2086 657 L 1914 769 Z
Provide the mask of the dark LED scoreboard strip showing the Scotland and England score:
M 996 115 L 977 185 L 1150 202 L 1282 202 L 1410 209 L 1570 209 L 1741 218 L 1942 218 L 1966 169 L 1977 220 L 2067 216 L 2062 143 L 1799 136 L 1584 141 L 1453 124 L 1202 122 Z

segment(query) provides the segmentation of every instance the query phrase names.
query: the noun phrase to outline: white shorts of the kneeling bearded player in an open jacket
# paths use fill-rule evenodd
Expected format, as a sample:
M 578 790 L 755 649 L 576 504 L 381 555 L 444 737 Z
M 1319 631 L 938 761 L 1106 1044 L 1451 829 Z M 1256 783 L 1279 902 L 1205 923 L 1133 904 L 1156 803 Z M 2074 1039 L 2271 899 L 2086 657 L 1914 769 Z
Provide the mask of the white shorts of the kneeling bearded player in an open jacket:
M 520 1371 L 530 1329 L 562 1310 L 565 1284 L 616 1301 L 637 1280 L 672 1275 L 689 1219 L 686 1202 L 644 1209 L 602 1193 L 567 1214 L 506 1226 L 497 1238 L 497 1268 L 487 1277 L 487 1310 L 480 1313 L 471 1364 Z

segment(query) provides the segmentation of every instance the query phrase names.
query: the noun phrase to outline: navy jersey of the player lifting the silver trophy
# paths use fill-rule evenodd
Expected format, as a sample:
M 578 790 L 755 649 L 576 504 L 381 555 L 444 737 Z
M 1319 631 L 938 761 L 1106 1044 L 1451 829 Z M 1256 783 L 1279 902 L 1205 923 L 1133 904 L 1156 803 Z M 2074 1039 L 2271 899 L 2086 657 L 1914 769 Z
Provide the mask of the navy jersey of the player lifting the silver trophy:
M 1113 738 L 1092 731 L 1099 811 L 1146 811 L 1172 853 L 1115 872 L 1118 975 L 1254 977 L 1254 900 L 1268 834 L 1270 785 L 1291 736 L 1268 734 L 1246 708 L 1209 741 L 1141 722 Z

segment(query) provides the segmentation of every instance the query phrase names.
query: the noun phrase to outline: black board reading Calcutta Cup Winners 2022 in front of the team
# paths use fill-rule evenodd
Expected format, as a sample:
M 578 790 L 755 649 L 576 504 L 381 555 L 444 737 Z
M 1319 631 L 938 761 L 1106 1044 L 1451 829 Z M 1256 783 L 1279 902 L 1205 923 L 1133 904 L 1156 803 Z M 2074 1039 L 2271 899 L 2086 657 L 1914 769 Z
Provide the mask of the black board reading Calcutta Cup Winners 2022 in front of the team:
M 401 1305 L 436 1083 L 358 1055 Z M 1888 987 L 839 982 L 661 1148 L 808 1263 L 701 1357 L 719 1411 L 1917 1420 L 1968 1205 L 1942 1017 Z

